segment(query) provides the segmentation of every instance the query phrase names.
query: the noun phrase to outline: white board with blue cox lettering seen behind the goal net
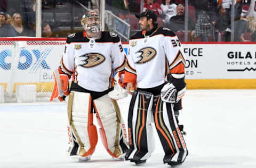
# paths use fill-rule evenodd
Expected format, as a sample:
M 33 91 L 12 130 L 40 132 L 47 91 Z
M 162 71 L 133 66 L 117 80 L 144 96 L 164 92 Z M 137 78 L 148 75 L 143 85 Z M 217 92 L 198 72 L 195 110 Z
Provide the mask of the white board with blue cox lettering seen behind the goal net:
M 6 41 L 5 41 L 6 42 Z M 18 43 L 25 42 L 24 46 Z M 16 41 L 0 45 L 0 83 L 53 81 L 52 71 L 60 63 L 65 41 Z

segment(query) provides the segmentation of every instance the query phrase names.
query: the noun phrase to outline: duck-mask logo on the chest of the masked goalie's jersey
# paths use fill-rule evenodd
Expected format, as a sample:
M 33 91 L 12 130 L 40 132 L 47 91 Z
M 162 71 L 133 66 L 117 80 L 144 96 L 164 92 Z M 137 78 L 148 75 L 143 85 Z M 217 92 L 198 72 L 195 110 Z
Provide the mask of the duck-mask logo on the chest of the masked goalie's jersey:
M 92 68 L 105 61 L 105 57 L 99 53 L 89 53 L 79 57 L 85 57 L 85 59 L 82 60 L 84 63 L 79 64 L 79 66 L 83 66 L 84 68 Z

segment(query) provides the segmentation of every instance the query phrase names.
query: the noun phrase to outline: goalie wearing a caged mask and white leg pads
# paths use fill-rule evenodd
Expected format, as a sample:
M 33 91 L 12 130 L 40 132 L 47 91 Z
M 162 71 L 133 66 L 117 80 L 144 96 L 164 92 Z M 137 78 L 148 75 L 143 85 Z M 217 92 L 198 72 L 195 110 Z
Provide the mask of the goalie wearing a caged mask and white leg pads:
M 93 122 L 96 116 L 101 140 L 107 152 L 123 159 L 127 134 L 116 100 L 108 93 L 114 87 L 114 71 L 121 77 L 126 56 L 115 33 L 100 31 L 98 13 L 87 12 L 81 21 L 85 31 L 69 35 L 61 63 L 54 71 L 55 85 L 51 100 L 68 99 L 69 156 L 87 161 L 98 141 Z M 69 89 L 69 79 L 72 80 Z M 117 79 L 118 80 L 118 79 Z M 121 80 L 119 80 L 121 81 Z M 70 93 L 69 93 L 70 91 Z M 114 96 L 116 90 L 111 91 Z

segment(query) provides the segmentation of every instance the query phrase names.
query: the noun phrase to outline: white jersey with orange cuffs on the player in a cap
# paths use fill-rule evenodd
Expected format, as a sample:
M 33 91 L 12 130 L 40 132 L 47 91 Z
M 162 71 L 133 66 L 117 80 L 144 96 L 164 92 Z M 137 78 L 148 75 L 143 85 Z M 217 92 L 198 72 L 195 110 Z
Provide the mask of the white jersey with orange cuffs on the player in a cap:
M 184 56 L 181 43 L 171 30 L 155 27 L 150 32 L 137 32 L 129 41 L 124 83 L 153 88 L 162 85 L 169 73 L 184 77 Z

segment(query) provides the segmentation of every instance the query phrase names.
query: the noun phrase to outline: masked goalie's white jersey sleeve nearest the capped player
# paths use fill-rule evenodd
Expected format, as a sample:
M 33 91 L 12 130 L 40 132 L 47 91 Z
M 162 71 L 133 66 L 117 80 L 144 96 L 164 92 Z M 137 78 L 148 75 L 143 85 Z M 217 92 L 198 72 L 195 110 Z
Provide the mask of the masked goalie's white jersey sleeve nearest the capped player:
M 114 46 L 111 50 L 111 58 L 115 73 L 124 72 L 126 64 L 126 55 L 121 40 L 118 36 L 116 37 L 115 43 L 113 45 Z

